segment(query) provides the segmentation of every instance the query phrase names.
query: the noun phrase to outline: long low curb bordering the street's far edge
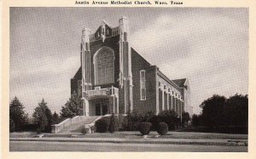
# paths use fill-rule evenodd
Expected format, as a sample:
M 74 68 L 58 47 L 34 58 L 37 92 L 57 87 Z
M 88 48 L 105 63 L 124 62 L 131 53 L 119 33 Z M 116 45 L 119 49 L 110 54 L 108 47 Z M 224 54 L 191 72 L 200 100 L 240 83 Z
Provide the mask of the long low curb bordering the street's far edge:
M 148 140 L 148 139 L 32 139 L 32 138 L 10 138 L 9 141 L 41 141 L 41 142 L 87 142 L 87 143 L 115 143 L 115 144 L 170 144 L 170 145 L 229 145 L 247 146 L 247 140 L 228 140 L 227 142 L 210 141 L 172 141 L 172 140 Z

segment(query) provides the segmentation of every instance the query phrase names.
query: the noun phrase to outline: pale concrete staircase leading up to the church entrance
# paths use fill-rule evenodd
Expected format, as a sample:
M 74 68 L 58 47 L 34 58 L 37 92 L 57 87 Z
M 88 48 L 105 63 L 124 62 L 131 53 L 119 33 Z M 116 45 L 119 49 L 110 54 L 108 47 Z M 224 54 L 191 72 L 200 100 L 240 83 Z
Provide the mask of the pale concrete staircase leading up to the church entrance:
M 79 116 L 76 119 L 77 122 L 73 122 L 67 127 L 62 128 L 61 131 L 58 133 L 62 133 L 62 134 L 81 133 L 82 128 L 84 128 L 84 124 L 90 124 L 90 123 L 96 122 L 96 120 L 98 120 L 101 117 L 102 116 Z

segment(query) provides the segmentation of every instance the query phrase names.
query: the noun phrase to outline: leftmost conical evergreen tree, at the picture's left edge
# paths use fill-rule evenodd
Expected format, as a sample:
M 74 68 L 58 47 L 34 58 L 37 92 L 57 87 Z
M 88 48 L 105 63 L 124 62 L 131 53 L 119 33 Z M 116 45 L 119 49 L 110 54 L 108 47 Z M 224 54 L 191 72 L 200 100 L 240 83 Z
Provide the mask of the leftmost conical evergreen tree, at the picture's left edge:
M 14 126 L 10 125 L 10 127 L 14 127 L 14 131 L 22 130 L 27 122 L 24 106 L 17 97 L 15 97 L 9 105 L 9 118 L 13 121 L 13 123 L 10 122 L 9 124 L 14 124 Z

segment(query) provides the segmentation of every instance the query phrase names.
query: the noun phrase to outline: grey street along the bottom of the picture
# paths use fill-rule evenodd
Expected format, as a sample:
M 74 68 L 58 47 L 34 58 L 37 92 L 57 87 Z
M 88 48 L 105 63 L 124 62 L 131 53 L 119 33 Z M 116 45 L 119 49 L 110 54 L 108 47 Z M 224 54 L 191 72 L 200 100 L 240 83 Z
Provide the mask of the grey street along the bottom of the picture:
M 184 151 L 247 152 L 247 146 L 10 141 L 10 151 Z

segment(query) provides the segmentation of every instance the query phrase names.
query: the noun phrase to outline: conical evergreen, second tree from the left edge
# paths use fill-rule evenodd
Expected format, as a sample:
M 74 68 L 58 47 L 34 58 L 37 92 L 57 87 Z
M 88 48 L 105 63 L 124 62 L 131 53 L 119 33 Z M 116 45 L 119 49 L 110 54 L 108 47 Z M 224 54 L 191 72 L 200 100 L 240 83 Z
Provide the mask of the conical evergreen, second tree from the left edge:
M 50 132 L 52 124 L 52 113 L 47 103 L 42 99 L 33 113 L 34 123 L 38 126 L 38 133 Z

